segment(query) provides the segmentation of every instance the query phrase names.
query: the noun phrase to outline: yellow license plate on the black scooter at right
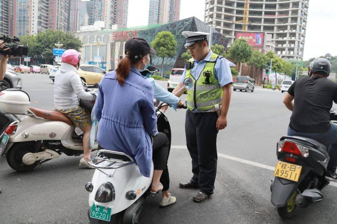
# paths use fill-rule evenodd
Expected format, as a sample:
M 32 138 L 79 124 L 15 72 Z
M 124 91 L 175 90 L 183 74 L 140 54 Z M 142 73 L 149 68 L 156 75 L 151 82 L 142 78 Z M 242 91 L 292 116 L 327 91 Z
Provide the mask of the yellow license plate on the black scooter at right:
M 302 166 L 277 161 L 274 176 L 297 182 L 300 178 Z

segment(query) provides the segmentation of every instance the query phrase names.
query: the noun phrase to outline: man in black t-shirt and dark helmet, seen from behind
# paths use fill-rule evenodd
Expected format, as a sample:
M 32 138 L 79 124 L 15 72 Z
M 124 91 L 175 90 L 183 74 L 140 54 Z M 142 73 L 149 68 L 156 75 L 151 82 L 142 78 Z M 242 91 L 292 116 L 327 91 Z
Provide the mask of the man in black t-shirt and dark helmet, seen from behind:
M 337 103 L 337 83 L 327 79 L 330 70 L 327 59 L 314 59 L 309 65 L 309 76 L 296 80 L 289 87 L 283 103 L 293 111 L 288 135 L 308 137 L 329 145 L 327 177 L 337 181 L 337 125 L 330 123 L 329 113 L 332 103 Z

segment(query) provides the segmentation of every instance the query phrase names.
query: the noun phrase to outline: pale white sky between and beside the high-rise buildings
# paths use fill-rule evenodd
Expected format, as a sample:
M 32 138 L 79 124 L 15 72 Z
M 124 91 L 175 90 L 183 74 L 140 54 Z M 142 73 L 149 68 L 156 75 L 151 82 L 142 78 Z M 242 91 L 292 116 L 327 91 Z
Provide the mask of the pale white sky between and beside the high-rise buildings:
M 129 0 L 128 27 L 148 24 L 150 0 Z M 195 16 L 204 21 L 205 0 L 181 0 L 180 19 Z M 330 53 L 337 55 L 337 0 L 309 0 L 304 60 Z M 249 18 L 248 18 L 249 19 Z

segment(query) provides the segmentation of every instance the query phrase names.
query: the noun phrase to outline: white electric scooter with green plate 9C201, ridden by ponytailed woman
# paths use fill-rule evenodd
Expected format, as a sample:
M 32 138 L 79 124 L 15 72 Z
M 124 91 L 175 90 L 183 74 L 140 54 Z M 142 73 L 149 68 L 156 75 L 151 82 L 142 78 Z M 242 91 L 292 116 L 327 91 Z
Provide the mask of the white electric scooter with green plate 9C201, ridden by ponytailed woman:
M 193 80 L 186 78 L 182 89 L 193 87 Z M 160 111 L 166 104 L 155 103 L 158 131 L 165 133 L 170 141 L 171 128 L 167 117 Z M 182 108 L 187 108 L 183 106 Z M 150 193 L 153 163 L 150 178 L 144 177 L 131 155 L 100 149 L 89 160 L 96 168 L 91 182 L 86 183 L 89 191 L 88 217 L 91 224 L 136 224 L 146 196 Z

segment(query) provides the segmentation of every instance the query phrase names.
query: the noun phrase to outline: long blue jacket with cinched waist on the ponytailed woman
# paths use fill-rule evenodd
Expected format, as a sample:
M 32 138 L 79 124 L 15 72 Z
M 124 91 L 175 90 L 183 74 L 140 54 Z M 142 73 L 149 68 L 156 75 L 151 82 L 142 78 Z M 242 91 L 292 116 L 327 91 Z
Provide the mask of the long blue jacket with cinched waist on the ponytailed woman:
M 98 144 L 134 156 L 145 177 L 150 177 L 152 164 L 150 135 L 158 133 L 153 98 L 151 83 L 132 67 L 123 86 L 115 71 L 106 73 L 95 103 Z

